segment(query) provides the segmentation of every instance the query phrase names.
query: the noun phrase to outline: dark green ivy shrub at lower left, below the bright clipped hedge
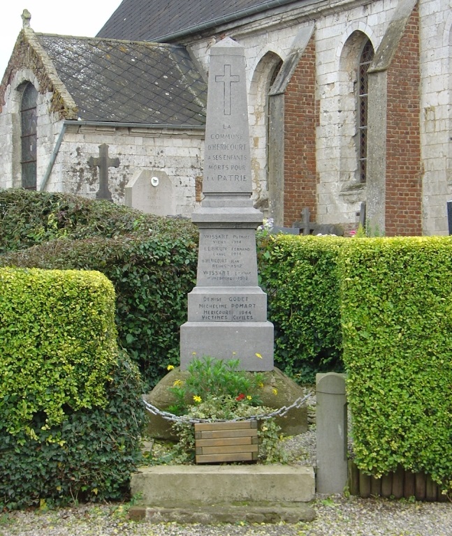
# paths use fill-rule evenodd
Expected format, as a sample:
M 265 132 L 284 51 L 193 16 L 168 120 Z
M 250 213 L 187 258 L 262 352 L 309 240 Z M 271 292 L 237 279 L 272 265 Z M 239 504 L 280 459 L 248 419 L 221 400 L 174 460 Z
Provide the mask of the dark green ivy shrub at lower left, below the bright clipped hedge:
M 0 508 L 124 498 L 141 461 L 143 385 L 126 355 L 110 364 L 108 375 L 104 408 L 64 405 L 63 420 L 50 427 L 43 412 L 36 412 L 36 438 L 25 430 L 11 435 L 1 417 Z

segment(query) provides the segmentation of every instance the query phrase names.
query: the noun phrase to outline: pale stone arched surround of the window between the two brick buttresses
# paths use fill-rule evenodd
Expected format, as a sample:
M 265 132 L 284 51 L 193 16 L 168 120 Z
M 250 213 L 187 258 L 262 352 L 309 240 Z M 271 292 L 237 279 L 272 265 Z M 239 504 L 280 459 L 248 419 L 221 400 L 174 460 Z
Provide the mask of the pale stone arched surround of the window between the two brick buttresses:
M 366 44 L 374 46 L 361 29 L 353 31 L 344 42 L 338 69 L 338 100 L 342 122 L 340 124 L 340 183 L 345 202 L 355 204 L 365 201 L 365 171 L 360 169 L 360 147 L 365 143 L 363 121 L 360 121 L 360 59 Z M 367 107 L 365 111 L 367 117 Z M 365 121 L 367 126 L 367 121 Z M 365 133 L 364 133 L 365 134 Z

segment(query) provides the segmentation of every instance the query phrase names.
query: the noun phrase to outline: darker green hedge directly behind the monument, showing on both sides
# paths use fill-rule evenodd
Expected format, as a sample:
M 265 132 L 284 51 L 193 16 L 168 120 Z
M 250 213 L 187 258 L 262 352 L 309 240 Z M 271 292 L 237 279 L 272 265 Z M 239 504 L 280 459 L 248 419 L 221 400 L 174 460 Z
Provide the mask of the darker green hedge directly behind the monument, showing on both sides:
M 0 265 L 96 269 L 112 281 L 119 341 L 149 387 L 168 364 L 179 364 L 179 329 L 196 284 L 198 230 L 191 222 L 73 195 L 8 190 L 0 191 L 0 231 Z M 342 370 L 337 254 L 343 242 L 258 240 L 275 363 L 300 382 Z

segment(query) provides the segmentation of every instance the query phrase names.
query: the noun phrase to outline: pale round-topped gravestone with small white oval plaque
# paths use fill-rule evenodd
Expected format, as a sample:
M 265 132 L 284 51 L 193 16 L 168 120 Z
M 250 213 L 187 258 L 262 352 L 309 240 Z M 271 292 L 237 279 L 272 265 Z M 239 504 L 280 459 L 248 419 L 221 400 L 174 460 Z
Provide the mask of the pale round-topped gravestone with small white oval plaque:
M 125 204 L 147 214 L 168 216 L 176 213 L 173 184 L 163 171 L 138 171 L 125 188 Z

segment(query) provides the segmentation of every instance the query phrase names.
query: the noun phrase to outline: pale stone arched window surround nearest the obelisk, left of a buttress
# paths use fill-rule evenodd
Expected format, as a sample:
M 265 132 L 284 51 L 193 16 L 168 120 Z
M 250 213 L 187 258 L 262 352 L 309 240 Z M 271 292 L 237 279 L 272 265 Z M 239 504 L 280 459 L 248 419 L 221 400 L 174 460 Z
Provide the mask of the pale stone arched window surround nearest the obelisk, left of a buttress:
M 264 215 L 268 211 L 268 94 L 282 66 L 282 58 L 268 51 L 261 57 L 251 75 L 249 116 L 251 137 L 251 174 L 254 204 Z

